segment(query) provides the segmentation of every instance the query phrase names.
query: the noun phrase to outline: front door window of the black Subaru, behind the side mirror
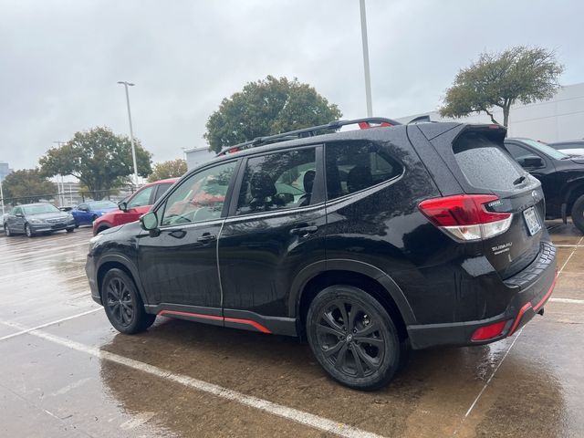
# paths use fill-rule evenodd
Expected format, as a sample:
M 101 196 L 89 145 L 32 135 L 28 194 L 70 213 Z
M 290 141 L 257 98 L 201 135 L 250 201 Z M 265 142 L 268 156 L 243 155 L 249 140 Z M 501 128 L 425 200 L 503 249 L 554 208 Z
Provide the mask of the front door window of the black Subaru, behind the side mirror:
M 161 224 L 190 224 L 221 217 L 225 196 L 236 162 L 194 173 L 168 197 L 162 207 Z

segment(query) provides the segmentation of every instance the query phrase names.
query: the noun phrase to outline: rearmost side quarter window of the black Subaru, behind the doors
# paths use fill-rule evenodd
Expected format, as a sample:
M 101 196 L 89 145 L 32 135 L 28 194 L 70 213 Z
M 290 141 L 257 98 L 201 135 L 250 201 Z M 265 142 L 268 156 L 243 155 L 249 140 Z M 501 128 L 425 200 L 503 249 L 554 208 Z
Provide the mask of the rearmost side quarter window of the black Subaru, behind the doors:
M 326 146 L 328 199 L 359 192 L 401 175 L 401 164 L 370 141 L 342 141 Z

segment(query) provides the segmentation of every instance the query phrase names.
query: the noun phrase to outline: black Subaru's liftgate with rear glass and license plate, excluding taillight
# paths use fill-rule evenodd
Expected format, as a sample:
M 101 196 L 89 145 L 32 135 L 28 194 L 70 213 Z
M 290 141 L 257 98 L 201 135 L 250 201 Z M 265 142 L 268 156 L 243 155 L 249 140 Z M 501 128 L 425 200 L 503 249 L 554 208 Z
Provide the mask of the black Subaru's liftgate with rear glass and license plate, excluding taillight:
M 545 202 L 541 183 L 507 153 L 501 140 L 482 130 L 467 130 L 452 146 L 464 192 L 492 193 L 490 212 L 511 213 L 507 231 L 484 241 L 485 256 L 503 277 L 513 276 L 537 256 L 544 230 Z

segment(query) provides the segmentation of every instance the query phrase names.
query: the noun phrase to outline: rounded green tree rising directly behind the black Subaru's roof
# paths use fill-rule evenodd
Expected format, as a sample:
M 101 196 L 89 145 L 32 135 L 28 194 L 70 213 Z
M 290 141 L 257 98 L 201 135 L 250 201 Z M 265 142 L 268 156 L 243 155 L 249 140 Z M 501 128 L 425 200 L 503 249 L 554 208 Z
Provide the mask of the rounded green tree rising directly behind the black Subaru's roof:
M 209 120 L 203 138 L 211 151 L 256 137 L 299 130 L 338 120 L 337 105 L 328 103 L 316 89 L 297 78 L 248 82 L 244 89 L 225 98 Z

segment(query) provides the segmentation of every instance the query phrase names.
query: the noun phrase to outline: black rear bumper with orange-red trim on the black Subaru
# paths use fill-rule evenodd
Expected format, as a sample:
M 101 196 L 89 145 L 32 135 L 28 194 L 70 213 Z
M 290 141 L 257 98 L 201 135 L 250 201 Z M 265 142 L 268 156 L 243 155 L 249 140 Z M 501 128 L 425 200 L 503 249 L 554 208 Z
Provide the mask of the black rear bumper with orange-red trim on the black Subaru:
M 544 307 L 552 294 L 556 285 L 556 247 L 551 242 L 542 241 L 537 259 L 516 276 L 506 279 L 504 284 L 515 291 L 505 312 L 475 321 L 408 326 L 412 348 L 483 345 L 516 333 Z M 472 340 L 476 329 L 502 321 L 505 321 L 505 326 L 494 338 Z

